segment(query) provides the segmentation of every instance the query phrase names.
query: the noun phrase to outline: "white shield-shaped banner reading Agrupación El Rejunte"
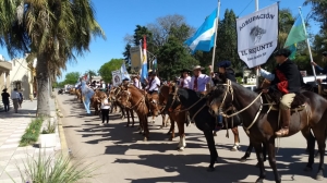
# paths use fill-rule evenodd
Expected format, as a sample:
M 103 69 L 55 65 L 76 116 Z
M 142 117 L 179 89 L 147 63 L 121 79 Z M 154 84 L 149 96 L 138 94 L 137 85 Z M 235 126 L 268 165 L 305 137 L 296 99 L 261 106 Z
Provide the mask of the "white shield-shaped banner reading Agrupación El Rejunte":
M 278 44 L 278 4 L 237 20 L 238 52 L 249 68 L 267 62 Z

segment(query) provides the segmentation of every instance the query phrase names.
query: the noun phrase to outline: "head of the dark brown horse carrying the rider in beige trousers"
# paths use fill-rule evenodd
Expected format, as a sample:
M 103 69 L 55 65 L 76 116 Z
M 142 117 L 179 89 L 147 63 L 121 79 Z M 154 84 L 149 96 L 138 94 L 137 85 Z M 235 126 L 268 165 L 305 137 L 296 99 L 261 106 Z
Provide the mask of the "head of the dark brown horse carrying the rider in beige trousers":
M 221 112 L 232 106 L 233 89 L 231 81 L 227 81 L 227 84 L 218 84 L 211 90 L 207 105 L 209 112 L 213 115 L 219 115 Z

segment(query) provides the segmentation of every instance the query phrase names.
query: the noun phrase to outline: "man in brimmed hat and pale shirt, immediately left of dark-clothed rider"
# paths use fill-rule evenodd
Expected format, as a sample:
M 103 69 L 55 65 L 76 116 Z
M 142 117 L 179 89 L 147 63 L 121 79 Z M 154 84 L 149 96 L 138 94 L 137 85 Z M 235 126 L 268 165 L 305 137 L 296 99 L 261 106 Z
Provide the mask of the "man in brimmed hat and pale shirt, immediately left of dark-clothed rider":
M 203 74 L 204 68 L 196 65 L 193 68 L 193 77 L 191 78 L 190 89 L 195 91 L 206 91 L 206 85 L 210 83 L 210 77 L 206 74 Z

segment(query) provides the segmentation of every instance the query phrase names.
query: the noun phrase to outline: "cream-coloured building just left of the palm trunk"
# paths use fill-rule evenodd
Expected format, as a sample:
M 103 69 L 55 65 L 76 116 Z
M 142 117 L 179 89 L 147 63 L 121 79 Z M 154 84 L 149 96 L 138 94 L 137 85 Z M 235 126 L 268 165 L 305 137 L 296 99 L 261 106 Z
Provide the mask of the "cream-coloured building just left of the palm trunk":
M 27 56 L 26 56 L 27 57 Z M 33 91 L 36 89 L 34 63 L 27 63 L 25 58 L 13 59 L 10 72 L 11 88 L 22 91 L 24 98 L 33 99 Z

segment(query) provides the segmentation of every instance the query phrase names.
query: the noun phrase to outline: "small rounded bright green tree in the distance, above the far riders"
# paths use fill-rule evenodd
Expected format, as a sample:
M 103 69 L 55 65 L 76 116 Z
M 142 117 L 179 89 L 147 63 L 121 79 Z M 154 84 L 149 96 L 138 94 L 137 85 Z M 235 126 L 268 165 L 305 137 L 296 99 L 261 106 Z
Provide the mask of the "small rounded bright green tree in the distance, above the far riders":
M 124 63 L 123 59 L 111 59 L 109 62 L 106 62 L 101 65 L 98 73 L 102 77 L 106 83 L 110 83 L 112 81 L 112 71 L 119 70 L 121 64 Z

